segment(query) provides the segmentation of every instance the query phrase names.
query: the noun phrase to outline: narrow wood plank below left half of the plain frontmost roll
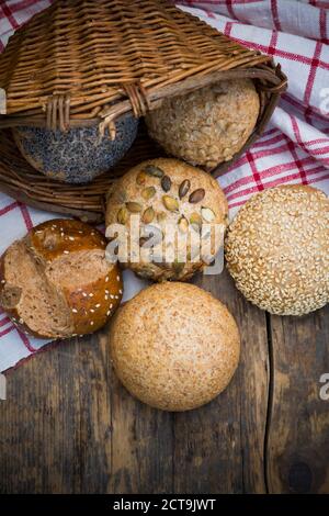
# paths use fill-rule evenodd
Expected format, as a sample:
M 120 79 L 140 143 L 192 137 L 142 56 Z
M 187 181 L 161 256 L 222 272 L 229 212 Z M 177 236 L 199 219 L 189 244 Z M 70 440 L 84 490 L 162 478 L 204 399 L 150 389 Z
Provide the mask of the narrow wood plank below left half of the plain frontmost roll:
M 172 414 L 138 402 L 113 373 L 112 493 L 171 493 Z

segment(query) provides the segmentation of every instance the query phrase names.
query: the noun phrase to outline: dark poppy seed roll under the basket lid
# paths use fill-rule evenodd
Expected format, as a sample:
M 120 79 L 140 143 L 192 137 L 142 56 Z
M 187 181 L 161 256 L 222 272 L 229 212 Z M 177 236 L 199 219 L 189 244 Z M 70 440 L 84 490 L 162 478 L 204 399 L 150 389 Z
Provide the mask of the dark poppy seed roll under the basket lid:
M 112 141 L 98 127 L 73 127 L 66 133 L 44 127 L 15 127 L 13 136 L 26 161 L 45 176 L 68 183 L 86 183 L 107 172 L 123 158 L 137 135 L 138 121 L 124 115 L 115 122 Z

